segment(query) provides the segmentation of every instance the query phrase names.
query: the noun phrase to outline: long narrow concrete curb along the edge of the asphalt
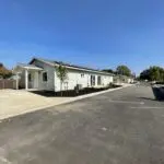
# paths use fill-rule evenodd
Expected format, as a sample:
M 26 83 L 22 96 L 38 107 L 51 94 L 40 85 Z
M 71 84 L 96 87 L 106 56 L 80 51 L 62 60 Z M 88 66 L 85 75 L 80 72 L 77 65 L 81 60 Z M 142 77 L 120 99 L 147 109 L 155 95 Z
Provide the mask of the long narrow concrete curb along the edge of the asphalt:
M 129 85 L 125 85 L 125 86 L 121 86 L 121 87 L 109 89 L 109 90 L 106 90 L 106 91 L 101 91 L 101 92 L 96 92 L 96 93 L 81 95 L 81 96 L 78 96 L 78 97 L 71 97 L 71 98 L 69 98 L 67 101 L 57 103 L 55 105 L 47 105 L 47 106 L 43 106 L 43 107 L 32 108 L 32 109 L 23 110 L 23 112 L 21 112 L 19 114 L 5 115 L 4 117 L 0 118 L 0 122 L 2 120 L 4 120 L 4 119 L 10 119 L 12 117 L 21 116 L 21 115 L 33 113 L 33 112 L 36 112 L 36 110 L 46 109 L 46 108 L 49 108 L 49 107 L 55 107 L 55 106 L 59 106 L 59 105 L 65 105 L 65 104 L 73 103 L 73 102 L 77 102 L 77 101 L 80 101 L 80 99 L 93 97 L 93 96 L 96 96 L 96 95 L 99 95 L 99 94 L 104 94 L 104 93 L 108 93 L 108 92 L 118 91 L 118 90 L 121 90 L 121 89 L 125 89 L 125 87 L 129 87 L 129 86 L 132 86 L 132 85 L 133 84 L 129 84 Z

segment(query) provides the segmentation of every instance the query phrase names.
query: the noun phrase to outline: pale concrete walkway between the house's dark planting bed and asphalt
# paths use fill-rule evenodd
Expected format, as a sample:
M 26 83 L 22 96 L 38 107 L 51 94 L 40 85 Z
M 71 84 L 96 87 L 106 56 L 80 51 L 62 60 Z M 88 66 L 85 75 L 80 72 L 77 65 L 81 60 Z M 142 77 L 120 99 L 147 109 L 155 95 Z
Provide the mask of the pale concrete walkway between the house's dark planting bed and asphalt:
M 130 86 L 130 84 L 125 84 L 122 87 L 127 86 Z M 45 109 L 51 106 L 92 97 L 98 94 L 120 90 L 122 87 L 109 89 L 78 97 L 45 97 L 26 92 L 24 90 L 0 90 L 0 120 L 39 109 Z

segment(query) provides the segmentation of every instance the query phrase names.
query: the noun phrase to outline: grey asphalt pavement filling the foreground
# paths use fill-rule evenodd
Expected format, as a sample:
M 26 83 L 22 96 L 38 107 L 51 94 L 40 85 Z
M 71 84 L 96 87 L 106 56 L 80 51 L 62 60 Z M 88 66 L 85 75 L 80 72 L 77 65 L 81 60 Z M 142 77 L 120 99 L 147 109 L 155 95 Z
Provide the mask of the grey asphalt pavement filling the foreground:
M 164 102 L 140 85 L 5 119 L 0 164 L 164 164 Z

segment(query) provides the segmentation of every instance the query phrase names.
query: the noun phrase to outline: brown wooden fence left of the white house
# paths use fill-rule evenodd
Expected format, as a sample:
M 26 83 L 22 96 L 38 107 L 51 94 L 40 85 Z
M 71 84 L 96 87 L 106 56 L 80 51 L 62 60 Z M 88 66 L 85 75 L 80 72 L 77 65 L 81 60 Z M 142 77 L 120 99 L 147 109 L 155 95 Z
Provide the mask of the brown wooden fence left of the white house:
M 2 89 L 16 89 L 15 80 L 0 80 L 0 90 Z

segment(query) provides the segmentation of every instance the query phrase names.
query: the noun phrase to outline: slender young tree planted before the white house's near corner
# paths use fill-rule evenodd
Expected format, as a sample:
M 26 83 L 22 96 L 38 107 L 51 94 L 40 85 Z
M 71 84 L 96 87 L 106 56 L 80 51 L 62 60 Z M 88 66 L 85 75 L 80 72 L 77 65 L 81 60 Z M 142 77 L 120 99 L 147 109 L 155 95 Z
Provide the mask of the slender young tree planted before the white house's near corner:
M 56 67 L 56 72 L 57 72 L 57 77 L 60 79 L 60 92 L 62 96 L 62 85 L 63 82 L 68 79 L 68 71 L 66 67 L 59 65 L 58 67 Z

